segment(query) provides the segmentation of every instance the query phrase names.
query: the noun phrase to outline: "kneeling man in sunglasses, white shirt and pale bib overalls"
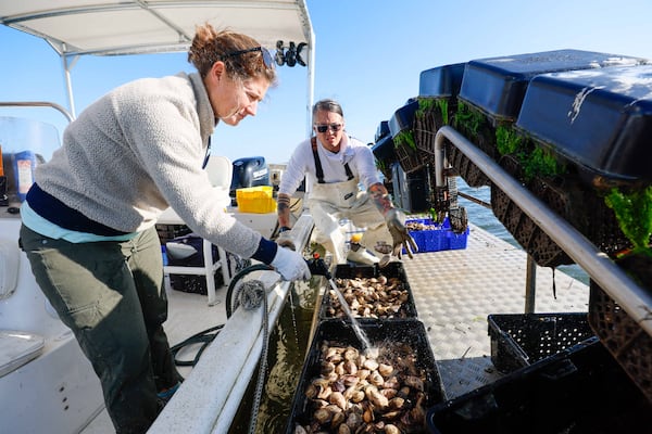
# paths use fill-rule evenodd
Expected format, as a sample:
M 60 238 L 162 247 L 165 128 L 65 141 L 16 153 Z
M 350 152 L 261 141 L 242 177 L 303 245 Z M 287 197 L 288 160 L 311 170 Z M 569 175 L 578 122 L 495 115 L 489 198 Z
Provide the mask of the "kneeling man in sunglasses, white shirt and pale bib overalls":
M 409 255 L 416 244 L 405 230 L 405 217 L 389 200 L 380 182 L 372 150 L 344 131 L 344 115 L 334 100 L 322 100 L 313 106 L 315 137 L 300 143 L 278 187 L 278 224 L 290 227 L 290 197 L 304 177 L 310 186 L 308 206 L 315 222 L 315 241 L 334 255 L 336 264 L 347 259 L 362 264 L 387 259 L 390 252 Z M 364 187 L 361 191 L 359 184 Z M 347 218 L 366 228 L 358 245 L 344 255 L 346 238 L 340 220 Z M 374 255 L 367 253 L 367 250 Z

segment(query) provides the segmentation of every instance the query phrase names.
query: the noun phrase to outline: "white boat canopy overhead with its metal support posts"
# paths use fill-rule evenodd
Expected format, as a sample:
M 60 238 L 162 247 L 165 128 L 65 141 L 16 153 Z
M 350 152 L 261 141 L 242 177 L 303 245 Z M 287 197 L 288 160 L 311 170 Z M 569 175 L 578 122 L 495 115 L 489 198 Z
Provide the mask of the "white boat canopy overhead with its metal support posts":
M 249 35 L 273 51 L 287 53 L 301 46 L 298 64 L 308 66 L 312 104 L 314 33 L 304 0 L 0 2 L 0 24 L 45 39 L 62 58 L 73 116 L 70 69 L 78 56 L 186 51 L 196 26 L 204 23 Z

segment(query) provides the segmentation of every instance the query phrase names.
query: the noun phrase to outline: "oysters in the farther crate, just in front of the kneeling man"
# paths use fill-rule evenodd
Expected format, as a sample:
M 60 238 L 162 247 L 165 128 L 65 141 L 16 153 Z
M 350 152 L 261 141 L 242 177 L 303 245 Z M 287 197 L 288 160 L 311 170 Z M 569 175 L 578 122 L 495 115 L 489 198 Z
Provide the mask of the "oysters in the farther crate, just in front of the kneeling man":
M 399 278 L 336 279 L 336 284 L 355 318 L 405 318 L 403 304 L 410 299 L 406 285 Z M 325 315 L 327 318 L 347 318 L 335 289 L 329 289 Z

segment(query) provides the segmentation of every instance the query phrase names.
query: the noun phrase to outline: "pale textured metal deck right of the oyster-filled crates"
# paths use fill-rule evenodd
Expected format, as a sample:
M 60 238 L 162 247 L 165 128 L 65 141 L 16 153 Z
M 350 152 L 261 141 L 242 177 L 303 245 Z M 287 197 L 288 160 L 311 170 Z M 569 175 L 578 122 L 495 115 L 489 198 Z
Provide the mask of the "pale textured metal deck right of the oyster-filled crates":
M 501 376 L 491 363 L 487 316 L 523 314 L 527 255 L 469 225 L 464 250 L 404 258 L 418 318 L 428 331 L 449 399 Z M 587 311 L 588 286 L 556 270 L 537 267 L 536 312 Z

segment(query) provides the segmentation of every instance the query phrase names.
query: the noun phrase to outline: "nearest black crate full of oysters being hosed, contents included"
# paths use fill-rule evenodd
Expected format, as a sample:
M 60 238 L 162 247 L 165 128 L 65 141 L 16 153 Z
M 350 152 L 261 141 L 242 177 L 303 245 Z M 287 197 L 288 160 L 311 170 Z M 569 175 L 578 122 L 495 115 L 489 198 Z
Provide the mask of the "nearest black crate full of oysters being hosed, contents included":
M 399 432 L 427 433 L 426 410 L 442 403 L 444 395 L 424 324 L 418 320 L 408 319 L 361 324 L 361 329 L 372 346 L 379 348 L 375 360 L 384 366 L 376 369 L 371 363 L 359 369 L 358 366 L 362 366 L 364 358 L 354 355 L 360 354 L 363 348 L 351 324 L 342 321 L 322 322 L 315 331 L 303 366 L 286 434 L 294 434 L 297 426 L 309 427 L 311 431 L 306 430 L 308 432 L 335 433 L 342 423 L 352 433 L 361 432 L 358 430 L 365 430 L 367 425 L 373 429 L 377 423 L 383 424 L 381 430 L 391 424 L 401 430 Z M 347 349 L 349 353 L 344 354 Z M 355 368 L 352 368 L 353 365 Z M 355 373 L 337 374 L 344 366 L 348 367 L 344 372 Z M 355 379 L 364 374 L 367 374 L 368 384 L 361 391 L 361 395 L 358 387 L 362 387 L 364 383 Z M 391 394 L 386 392 L 386 401 L 378 396 L 378 386 L 374 384 L 383 384 L 381 388 L 393 388 L 397 393 L 389 398 Z M 401 390 L 402 387 L 406 388 Z M 337 392 L 340 390 L 341 392 Z M 337 408 L 329 409 L 329 405 Z M 374 422 L 365 422 L 372 419 Z

